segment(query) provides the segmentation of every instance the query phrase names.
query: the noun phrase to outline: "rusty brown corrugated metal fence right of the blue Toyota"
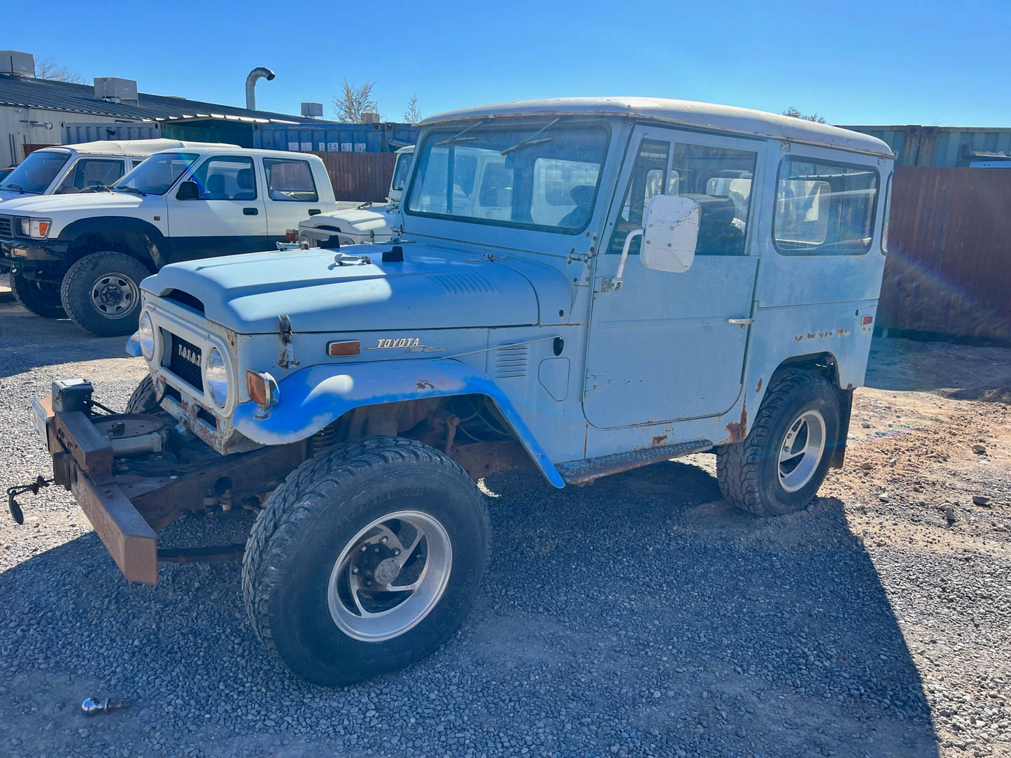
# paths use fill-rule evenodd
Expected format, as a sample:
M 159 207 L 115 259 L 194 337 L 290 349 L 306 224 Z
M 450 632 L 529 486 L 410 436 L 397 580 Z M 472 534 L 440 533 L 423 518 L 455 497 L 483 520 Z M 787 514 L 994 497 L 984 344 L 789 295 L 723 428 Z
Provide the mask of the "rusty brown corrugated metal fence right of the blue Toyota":
M 897 167 L 878 326 L 1011 345 L 1011 169 Z

